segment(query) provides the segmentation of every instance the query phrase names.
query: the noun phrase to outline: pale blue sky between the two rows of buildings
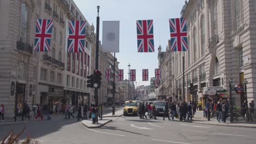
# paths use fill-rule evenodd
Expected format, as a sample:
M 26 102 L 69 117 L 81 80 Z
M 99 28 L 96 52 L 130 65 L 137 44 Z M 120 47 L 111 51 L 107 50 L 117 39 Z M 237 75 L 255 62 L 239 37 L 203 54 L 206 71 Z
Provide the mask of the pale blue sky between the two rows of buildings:
M 102 40 L 102 21 L 120 21 L 119 53 L 116 57 L 119 69 L 124 69 L 124 79 L 128 79 L 128 66 L 136 69 L 136 82 L 150 85 L 154 69 L 158 68 L 158 47 L 166 50 L 170 39 L 168 19 L 181 16 L 183 0 L 73 0 L 85 19 L 94 23 L 96 32 L 97 5 L 100 5 L 100 40 Z M 136 20 L 153 20 L 155 52 L 137 52 Z M 142 69 L 149 69 L 149 81 L 142 81 Z

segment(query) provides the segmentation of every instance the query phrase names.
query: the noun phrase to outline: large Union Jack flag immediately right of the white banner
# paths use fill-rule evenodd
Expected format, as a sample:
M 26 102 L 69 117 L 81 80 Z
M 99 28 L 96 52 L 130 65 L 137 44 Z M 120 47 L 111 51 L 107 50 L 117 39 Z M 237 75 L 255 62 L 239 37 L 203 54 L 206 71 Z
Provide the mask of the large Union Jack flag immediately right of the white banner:
M 138 52 L 154 52 L 153 20 L 137 21 Z

